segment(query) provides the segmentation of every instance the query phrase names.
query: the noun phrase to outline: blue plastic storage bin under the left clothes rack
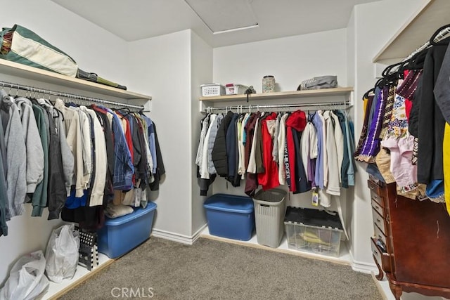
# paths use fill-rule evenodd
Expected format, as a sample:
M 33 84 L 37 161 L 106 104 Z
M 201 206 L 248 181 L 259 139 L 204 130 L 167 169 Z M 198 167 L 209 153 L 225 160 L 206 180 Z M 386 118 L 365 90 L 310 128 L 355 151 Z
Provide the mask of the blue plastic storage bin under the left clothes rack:
M 115 219 L 105 218 L 105 226 L 97 231 L 98 252 L 110 259 L 127 254 L 150 237 L 156 204 L 148 202 L 145 209 Z

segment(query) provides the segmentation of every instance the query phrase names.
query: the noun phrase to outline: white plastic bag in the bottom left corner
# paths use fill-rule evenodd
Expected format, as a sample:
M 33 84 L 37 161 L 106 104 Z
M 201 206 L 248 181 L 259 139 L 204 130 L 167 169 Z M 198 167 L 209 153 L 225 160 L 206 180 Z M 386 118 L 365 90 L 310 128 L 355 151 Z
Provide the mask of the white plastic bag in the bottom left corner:
M 32 300 L 49 288 L 49 280 L 44 275 L 44 253 L 39 250 L 22 256 L 14 263 L 3 289 L 1 300 Z

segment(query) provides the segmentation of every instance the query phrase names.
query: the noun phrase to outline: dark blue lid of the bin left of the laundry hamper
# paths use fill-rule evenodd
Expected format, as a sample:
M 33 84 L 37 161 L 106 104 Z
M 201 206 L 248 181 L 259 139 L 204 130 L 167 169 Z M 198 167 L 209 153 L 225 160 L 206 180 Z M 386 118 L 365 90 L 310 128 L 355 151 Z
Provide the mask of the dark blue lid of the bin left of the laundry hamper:
M 226 194 L 212 195 L 207 198 L 203 207 L 239 214 L 250 214 L 254 210 L 252 198 Z

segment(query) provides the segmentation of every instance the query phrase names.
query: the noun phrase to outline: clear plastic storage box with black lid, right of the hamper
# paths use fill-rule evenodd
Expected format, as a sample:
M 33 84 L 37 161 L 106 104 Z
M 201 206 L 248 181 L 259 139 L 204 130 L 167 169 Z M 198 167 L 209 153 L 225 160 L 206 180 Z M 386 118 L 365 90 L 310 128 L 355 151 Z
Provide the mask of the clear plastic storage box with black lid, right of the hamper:
M 284 224 L 289 249 L 339 256 L 343 227 L 338 213 L 288 207 Z

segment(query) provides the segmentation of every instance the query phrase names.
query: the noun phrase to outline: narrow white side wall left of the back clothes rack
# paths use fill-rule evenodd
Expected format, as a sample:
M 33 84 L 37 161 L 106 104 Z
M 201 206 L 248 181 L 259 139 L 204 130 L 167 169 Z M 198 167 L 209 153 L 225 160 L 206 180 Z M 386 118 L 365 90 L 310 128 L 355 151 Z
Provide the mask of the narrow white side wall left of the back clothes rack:
M 195 235 L 205 224 L 205 209 L 203 202 L 205 197 L 200 196 L 200 188 L 197 179 L 197 168 L 195 166 L 195 155 L 197 153 L 200 138 L 200 112 L 201 96 L 200 84 L 212 82 L 212 47 L 195 32 L 191 32 L 191 181 L 192 181 L 192 231 Z

